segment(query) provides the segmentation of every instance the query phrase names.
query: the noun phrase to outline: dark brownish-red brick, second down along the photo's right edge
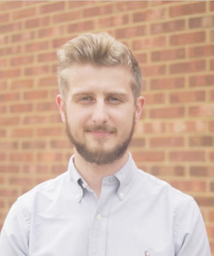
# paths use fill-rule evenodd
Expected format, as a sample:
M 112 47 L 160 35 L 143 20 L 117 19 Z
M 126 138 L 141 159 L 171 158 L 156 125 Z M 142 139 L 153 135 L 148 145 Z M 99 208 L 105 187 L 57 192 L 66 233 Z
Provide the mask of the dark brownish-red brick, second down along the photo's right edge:
M 191 18 L 189 20 L 189 28 L 210 28 L 214 26 L 214 16 L 205 16 L 205 17 L 197 17 Z

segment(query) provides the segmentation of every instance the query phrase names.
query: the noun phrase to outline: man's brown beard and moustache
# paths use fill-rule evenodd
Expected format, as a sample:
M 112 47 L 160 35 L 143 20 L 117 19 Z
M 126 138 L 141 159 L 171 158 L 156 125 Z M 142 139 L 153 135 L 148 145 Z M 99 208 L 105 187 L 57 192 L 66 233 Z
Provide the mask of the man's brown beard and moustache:
M 133 132 L 135 128 L 135 119 L 133 119 L 133 125 L 131 127 L 131 131 L 126 135 L 126 137 L 123 137 L 123 141 L 120 142 L 120 144 L 113 147 L 111 150 L 106 150 L 102 148 L 98 149 L 89 149 L 86 143 L 79 142 L 75 139 L 75 137 L 71 134 L 71 129 L 69 127 L 69 124 L 66 119 L 66 134 L 69 138 L 69 141 L 73 144 L 73 146 L 76 148 L 76 151 L 83 157 L 84 160 L 86 160 L 89 163 L 96 164 L 98 166 L 104 165 L 104 164 L 112 164 L 116 160 L 120 159 L 128 149 L 128 146 L 130 145 Z M 89 131 L 107 131 L 107 132 L 117 132 L 116 128 L 110 128 L 106 125 L 93 125 L 93 127 L 84 127 L 84 132 Z M 100 139 L 101 141 L 102 139 Z

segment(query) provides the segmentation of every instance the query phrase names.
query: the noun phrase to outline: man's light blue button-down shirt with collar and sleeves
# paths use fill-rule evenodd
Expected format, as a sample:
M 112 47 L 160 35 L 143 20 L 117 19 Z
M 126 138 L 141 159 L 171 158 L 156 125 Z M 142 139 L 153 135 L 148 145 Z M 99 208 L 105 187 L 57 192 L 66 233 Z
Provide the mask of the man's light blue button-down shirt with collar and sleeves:
M 11 207 L 1 256 L 211 256 L 191 196 L 136 168 L 130 154 L 120 171 L 103 179 L 98 200 L 73 157 L 66 173 Z

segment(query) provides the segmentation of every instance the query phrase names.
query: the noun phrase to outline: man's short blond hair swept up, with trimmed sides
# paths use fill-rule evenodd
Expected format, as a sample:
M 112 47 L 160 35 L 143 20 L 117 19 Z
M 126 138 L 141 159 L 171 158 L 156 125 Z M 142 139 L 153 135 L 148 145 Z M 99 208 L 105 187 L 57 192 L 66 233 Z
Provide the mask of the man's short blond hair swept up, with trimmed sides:
M 136 101 L 141 93 L 141 71 L 135 56 L 123 43 L 108 33 L 85 33 L 69 40 L 58 52 L 58 84 L 63 99 L 68 93 L 68 71 L 74 64 L 125 67 L 131 73 L 131 90 Z

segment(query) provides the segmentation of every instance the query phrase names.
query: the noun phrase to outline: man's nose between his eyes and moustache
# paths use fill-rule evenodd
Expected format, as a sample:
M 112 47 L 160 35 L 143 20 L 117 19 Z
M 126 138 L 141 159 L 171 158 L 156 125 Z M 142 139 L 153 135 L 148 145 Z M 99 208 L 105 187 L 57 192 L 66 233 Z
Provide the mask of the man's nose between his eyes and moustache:
M 94 104 L 91 119 L 98 125 L 102 125 L 108 121 L 108 109 L 104 102 L 96 102 L 96 104 Z

